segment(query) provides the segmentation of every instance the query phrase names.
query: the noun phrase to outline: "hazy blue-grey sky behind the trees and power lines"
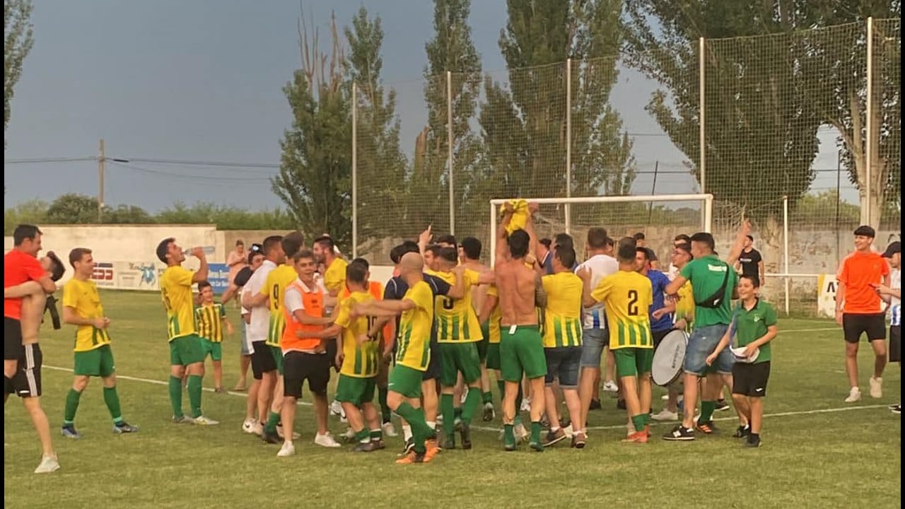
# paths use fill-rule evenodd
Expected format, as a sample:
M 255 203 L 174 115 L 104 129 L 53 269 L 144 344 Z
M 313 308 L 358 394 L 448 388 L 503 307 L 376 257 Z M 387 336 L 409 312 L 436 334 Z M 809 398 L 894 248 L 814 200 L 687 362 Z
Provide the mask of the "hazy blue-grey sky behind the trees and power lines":
M 98 139 L 108 157 L 167 158 L 276 164 L 279 140 L 290 125 L 282 86 L 300 67 L 299 3 L 288 0 L 38 0 L 34 46 L 15 89 L 5 158 L 90 157 Z M 399 93 L 406 151 L 424 126 L 421 74 L 424 43 L 433 35 L 433 2 L 370 0 L 383 18 L 384 82 Z M 305 2 L 306 15 L 329 37 L 330 9 L 347 24 L 362 2 Z M 504 62 L 497 41 L 505 2 L 472 3 L 472 36 L 485 70 Z M 502 78 L 502 72 L 493 72 Z M 623 70 L 611 101 L 625 129 L 637 134 L 635 157 L 647 172 L 635 194 L 650 194 L 649 172 L 659 161 L 681 172 L 682 155 L 643 110 L 654 85 Z M 835 167 L 832 135 L 818 168 Z M 271 168 L 109 164 L 105 203 L 151 212 L 176 200 L 213 201 L 248 208 L 281 205 L 270 191 Z M 843 175 L 843 184 L 845 176 Z M 97 163 L 5 165 L 6 206 L 65 192 L 95 195 Z M 658 192 L 693 192 L 681 173 L 661 174 Z M 814 187 L 835 187 L 823 174 Z M 272 199 L 271 199 L 272 197 Z

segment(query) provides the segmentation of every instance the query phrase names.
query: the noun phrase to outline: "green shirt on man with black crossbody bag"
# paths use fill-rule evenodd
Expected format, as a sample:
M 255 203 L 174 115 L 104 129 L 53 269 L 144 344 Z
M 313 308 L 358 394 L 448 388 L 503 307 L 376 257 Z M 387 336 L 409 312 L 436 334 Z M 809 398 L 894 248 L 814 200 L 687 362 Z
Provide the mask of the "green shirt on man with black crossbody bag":
M 738 283 L 738 274 L 716 255 L 695 258 L 681 268 L 679 274 L 691 281 L 695 303 L 700 303 L 719 290 L 727 271 L 729 271 L 729 281 L 726 282 L 726 293 L 723 295 L 719 307 L 710 309 L 699 305 L 694 306 L 695 329 L 709 325 L 729 325 L 732 321 L 732 291 L 735 290 Z

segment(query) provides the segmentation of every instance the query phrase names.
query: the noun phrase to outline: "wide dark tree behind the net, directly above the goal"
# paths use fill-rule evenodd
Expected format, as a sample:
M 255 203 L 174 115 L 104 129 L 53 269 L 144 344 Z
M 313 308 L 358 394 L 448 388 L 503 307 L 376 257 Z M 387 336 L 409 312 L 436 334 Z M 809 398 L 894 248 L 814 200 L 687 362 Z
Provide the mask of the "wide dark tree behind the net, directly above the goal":
M 634 161 L 608 104 L 623 42 L 621 0 L 508 0 L 500 50 L 509 87 L 485 78 L 484 187 L 497 197 L 564 197 L 567 59 L 572 83 L 573 196 L 622 195 Z

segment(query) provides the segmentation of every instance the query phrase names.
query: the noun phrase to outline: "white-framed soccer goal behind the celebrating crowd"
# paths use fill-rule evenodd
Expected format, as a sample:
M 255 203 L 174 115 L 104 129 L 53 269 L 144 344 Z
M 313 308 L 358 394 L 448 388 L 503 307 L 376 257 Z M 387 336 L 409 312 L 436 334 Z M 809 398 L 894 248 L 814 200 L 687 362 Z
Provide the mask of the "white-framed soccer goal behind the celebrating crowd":
M 709 194 L 525 199 L 539 206 L 538 238 L 572 235 L 579 258 L 584 257 L 587 230 L 594 226 L 603 226 L 617 240 L 643 233 L 647 245 L 666 256 L 676 235 L 710 232 L 713 222 L 713 195 Z M 491 200 L 491 254 L 496 252 L 500 206 L 508 201 Z

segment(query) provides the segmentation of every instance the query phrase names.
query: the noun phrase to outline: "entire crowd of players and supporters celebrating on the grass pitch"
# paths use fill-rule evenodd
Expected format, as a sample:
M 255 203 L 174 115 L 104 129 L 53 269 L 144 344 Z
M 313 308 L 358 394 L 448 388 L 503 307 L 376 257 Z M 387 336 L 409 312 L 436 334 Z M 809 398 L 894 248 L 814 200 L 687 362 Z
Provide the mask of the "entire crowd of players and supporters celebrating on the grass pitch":
M 243 360 L 253 375 L 243 431 L 281 445 L 277 456 L 295 454 L 296 402 L 306 382 L 314 443 L 342 447 L 328 427 L 331 370 L 338 372 L 332 406 L 348 422 L 344 437 L 357 452 L 386 447 L 385 437 L 396 436 L 394 414 L 402 419 L 405 443 L 397 463 L 430 462 L 442 450 L 472 448 L 472 420 L 492 421 L 497 413 L 491 378 L 500 393 L 505 450 L 516 450 L 522 441 L 535 451 L 564 440 L 584 448 L 587 414 L 599 408 L 605 352 L 627 414 L 625 441 L 646 442 L 652 416 L 678 419 L 682 402 L 694 403 L 683 406 L 681 422 L 662 438 L 713 433 L 713 413 L 729 388 L 738 413 L 733 436 L 759 447 L 777 328 L 776 311 L 759 298 L 763 261 L 751 246 L 748 224 L 725 260 L 709 233 L 676 236 L 669 268 L 662 271 L 643 235 L 614 240 L 602 227 L 588 230 L 586 259 L 578 264 L 569 235 L 538 240 L 536 212 L 523 200 L 502 208 L 492 268 L 479 261 L 476 238 L 457 243 L 448 235 L 433 242 L 428 228 L 417 242 L 392 249 L 395 274 L 386 285 L 371 281 L 366 260 L 339 256 L 328 235 L 312 248 L 299 233 L 271 236 L 252 245 L 249 268 L 236 276 L 222 303 L 214 303 L 206 281 L 204 250 L 184 251 L 176 239 L 164 239 L 156 254 L 167 265 L 159 283 L 173 422 L 218 424 L 202 412 L 204 363 L 208 356 L 214 360 L 215 389 L 222 391 L 221 342 L 231 332 L 223 303 L 235 297 L 243 310 Z M 5 256 L 5 396 L 22 397 L 38 431 L 39 473 L 59 468 L 40 405 L 37 336 L 45 296 L 56 290 L 54 276 L 62 275 L 55 256 L 37 258 L 41 235 L 36 226 L 19 226 L 14 249 Z M 881 300 L 890 304 L 890 360 L 900 360 L 900 245 L 880 255 L 872 250 L 873 237 L 869 226 L 855 231 L 856 250 L 838 274 L 837 321 L 852 382 L 847 402 L 861 398 L 856 355 L 862 333 L 877 357 L 871 396 L 881 397 L 887 359 Z M 195 271 L 182 266 L 186 255 L 198 258 Z M 79 437 L 74 418 L 90 377 L 102 380 L 113 430 L 134 433 L 138 427 L 119 408 L 110 318 L 90 281 L 90 249 L 73 249 L 69 262 L 73 276 L 63 286 L 63 320 L 77 332 L 62 434 Z M 676 330 L 690 334 L 683 374 L 669 384 L 666 408 L 653 415 L 654 351 Z M 569 422 L 561 415 L 562 402 Z M 527 423 L 519 411 L 523 403 Z

